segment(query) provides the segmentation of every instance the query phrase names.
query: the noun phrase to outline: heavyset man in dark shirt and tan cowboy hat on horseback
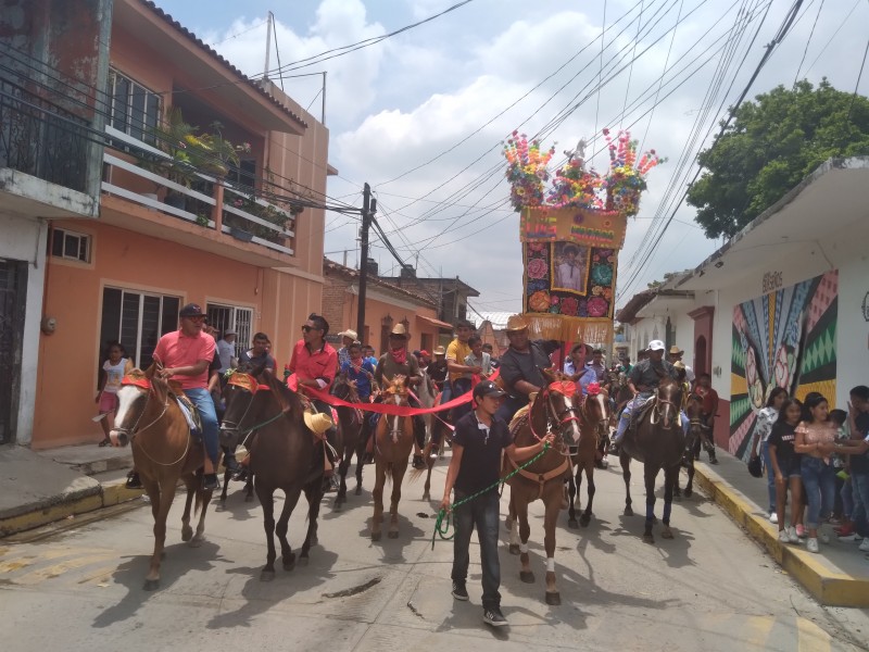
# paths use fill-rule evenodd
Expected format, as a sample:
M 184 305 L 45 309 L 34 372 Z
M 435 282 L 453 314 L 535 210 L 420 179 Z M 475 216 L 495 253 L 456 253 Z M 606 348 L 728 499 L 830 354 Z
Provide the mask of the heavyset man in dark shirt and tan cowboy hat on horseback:
M 511 316 L 505 330 L 509 347 L 501 356 L 501 378 L 507 397 L 498 416 L 509 423 L 513 415 L 528 404 L 529 394 L 545 385 L 540 369 L 552 366 L 550 355 L 558 349 L 558 342 L 528 339 L 528 323 L 521 315 Z

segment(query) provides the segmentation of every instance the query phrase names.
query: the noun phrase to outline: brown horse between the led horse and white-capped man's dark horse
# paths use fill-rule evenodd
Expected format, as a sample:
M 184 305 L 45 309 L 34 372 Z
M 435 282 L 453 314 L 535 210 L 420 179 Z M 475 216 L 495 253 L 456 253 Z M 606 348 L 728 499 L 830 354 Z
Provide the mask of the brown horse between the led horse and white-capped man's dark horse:
M 570 463 L 576 467 L 576 477 L 571 475 L 569 487 L 569 527 L 577 527 L 577 517 L 574 501 L 582 487 L 582 472 L 589 481 L 589 498 L 585 511 L 579 517 L 579 525 L 588 527 L 591 522 L 591 510 L 594 501 L 594 463 L 601 446 L 606 440 L 606 430 L 609 426 L 609 393 L 606 389 L 592 384 L 589 386 L 588 396 L 579 409 L 579 446 L 577 452 L 570 455 Z

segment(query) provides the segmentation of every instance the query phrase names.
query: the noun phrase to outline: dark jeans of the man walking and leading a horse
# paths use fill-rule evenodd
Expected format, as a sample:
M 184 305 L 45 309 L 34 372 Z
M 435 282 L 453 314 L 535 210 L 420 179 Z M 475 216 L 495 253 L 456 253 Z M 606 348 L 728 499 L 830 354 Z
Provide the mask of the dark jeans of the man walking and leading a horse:
M 456 491 L 455 502 L 465 498 Z M 482 566 L 482 606 L 501 606 L 501 564 L 498 561 L 498 518 L 501 503 L 498 491 L 488 491 L 453 512 L 455 538 L 453 539 L 453 581 L 464 584 L 468 577 L 470 535 L 477 528 Z M 517 527 L 517 526 L 514 526 Z

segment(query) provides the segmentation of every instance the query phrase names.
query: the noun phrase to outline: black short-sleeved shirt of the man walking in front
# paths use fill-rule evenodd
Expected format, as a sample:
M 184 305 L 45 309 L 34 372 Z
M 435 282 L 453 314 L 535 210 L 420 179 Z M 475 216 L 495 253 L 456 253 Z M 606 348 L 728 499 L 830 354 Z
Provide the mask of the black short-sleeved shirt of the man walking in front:
M 477 413 L 471 411 L 456 422 L 453 434 L 453 443 L 463 449 L 455 490 L 465 496 L 481 491 L 501 478 L 501 452 L 513 443 L 504 419 L 493 416 L 488 430 L 480 425 Z

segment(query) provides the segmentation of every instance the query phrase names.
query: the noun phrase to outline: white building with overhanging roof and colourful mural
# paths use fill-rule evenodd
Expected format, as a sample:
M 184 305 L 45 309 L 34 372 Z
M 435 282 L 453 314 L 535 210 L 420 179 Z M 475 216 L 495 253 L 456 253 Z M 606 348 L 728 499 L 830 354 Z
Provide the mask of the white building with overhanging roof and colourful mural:
M 867 238 L 869 158 L 833 159 L 635 311 L 635 341 L 663 339 L 669 322 L 685 361 L 711 375 L 715 438 L 734 455 L 774 387 L 844 408 L 869 384 Z

